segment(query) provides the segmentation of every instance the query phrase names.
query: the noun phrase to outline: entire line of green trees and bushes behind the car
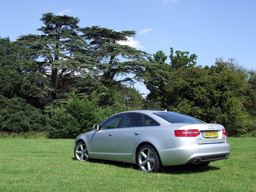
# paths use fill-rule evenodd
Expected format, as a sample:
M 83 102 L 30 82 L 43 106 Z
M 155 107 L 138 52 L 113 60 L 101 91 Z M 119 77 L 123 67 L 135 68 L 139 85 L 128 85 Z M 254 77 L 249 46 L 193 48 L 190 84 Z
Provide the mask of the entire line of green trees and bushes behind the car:
M 135 31 L 78 26 L 43 14 L 42 35 L 0 38 L 0 131 L 75 138 L 116 112 L 167 110 L 256 135 L 256 72 L 234 59 L 196 65 L 196 54 L 150 55 L 120 42 Z M 145 96 L 133 87 L 146 85 Z

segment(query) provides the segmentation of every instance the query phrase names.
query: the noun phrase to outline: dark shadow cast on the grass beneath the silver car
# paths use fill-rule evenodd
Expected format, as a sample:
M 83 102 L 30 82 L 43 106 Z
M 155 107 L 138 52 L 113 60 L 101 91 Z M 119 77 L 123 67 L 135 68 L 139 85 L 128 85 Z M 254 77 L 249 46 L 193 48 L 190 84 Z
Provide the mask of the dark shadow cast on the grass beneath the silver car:
M 76 160 L 74 157 L 72 160 Z M 91 159 L 90 163 L 93 164 L 108 164 L 117 166 L 120 168 L 132 168 L 134 170 L 141 171 L 138 168 L 137 164 L 125 163 L 125 162 L 118 162 L 118 161 L 110 161 L 110 160 L 101 160 L 101 159 Z M 212 170 L 220 170 L 220 168 L 216 166 L 211 166 L 211 163 L 208 166 L 200 166 L 197 164 L 186 164 L 186 165 L 176 165 L 176 166 L 165 166 L 162 168 L 162 174 L 193 174 L 193 173 L 200 173 L 200 172 L 207 172 Z

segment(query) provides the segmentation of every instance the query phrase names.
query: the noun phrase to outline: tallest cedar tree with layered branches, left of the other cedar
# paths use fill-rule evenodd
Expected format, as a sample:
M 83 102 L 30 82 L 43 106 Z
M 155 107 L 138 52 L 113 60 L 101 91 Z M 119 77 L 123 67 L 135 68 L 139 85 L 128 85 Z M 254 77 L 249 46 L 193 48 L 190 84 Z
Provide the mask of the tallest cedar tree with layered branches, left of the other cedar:
M 23 35 L 17 43 L 28 48 L 36 60 L 37 71 L 49 78 L 52 97 L 56 99 L 62 82 L 90 68 L 89 64 L 93 61 L 83 54 L 87 44 L 78 34 L 78 18 L 46 13 L 40 20 L 44 26 L 38 31 L 44 34 Z

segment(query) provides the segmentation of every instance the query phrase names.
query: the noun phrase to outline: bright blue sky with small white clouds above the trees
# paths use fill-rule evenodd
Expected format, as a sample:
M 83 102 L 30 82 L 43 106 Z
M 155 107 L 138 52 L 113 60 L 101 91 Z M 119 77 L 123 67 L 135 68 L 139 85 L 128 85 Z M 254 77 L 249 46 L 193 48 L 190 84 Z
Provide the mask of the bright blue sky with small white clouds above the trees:
M 0 36 L 38 34 L 46 12 L 77 17 L 81 27 L 135 30 L 129 44 L 150 54 L 173 47 L 196 54 L 198 65 L 222 56 L 256 69 L 255 0 L 0 0 Z

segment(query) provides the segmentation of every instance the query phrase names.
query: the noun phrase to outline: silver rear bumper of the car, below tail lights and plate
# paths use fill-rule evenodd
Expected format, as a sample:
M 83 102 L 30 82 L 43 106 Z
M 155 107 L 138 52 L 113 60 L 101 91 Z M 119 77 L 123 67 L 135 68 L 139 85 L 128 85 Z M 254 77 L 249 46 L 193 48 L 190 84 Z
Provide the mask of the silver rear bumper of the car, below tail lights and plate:
M 190 144 L 181 147 L 159 150 L 163 166 L 190 164 L 227 159 L 230 154 L 228 143 Z

